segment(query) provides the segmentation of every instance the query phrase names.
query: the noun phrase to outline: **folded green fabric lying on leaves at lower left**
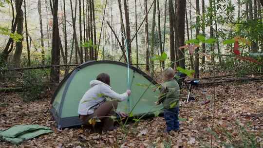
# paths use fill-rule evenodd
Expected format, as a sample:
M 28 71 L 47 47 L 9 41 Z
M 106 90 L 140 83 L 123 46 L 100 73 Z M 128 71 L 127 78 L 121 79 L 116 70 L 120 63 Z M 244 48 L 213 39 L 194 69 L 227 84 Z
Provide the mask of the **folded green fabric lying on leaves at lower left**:
M 51 132 L 53 132 L 53 130 L 50 128 L 39 125 L 16 125 L 0 131 L 0 139 L 12 144 L 20 144 L 23 141 Z

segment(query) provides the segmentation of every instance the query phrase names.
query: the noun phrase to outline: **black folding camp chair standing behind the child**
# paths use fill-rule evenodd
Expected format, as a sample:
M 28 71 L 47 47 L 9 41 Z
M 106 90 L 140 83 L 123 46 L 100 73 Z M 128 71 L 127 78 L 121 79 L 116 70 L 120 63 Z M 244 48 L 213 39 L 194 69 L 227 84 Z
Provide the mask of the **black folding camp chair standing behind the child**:
M 187 96 L 187 102 L 189 101 L 194 101 L 195 98 L 194 96 L 191 95 L 192 91 L 192 86 L 197 86 L 199 84 L 199 79 L 193 79 L 190 81 L 186 81 L 186 76 L 187 74 L 183 74 L 181 72 L 178 72 L 177 74 L 174 75 L 174 79 L 178 82 L 180 89 L 182 88 L 182 82 L 185 83 L 187 89 L 188 89 L 188 96 Z

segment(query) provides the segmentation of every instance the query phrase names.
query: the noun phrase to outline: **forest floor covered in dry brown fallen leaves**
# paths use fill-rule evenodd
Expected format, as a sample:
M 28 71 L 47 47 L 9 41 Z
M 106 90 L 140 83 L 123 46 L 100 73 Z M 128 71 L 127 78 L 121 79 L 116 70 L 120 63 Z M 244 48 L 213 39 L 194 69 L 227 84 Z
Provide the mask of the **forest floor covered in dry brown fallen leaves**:
M 233 82 L 199 87 L 193 93 L 197 101 L 181 102 L 180 105 L 180 118 L 185 120 L 180 122 L 181 131 L 170 134 L 163 132 L 163 117 L 141 120 L 137 125 L 131 122 L 126 128 L 102 134 L 81 128 L 60 130 L 56 129 L 56 123 L 49 112 L 50 98 L 25 103 L 17 93 L 1 94 L 0 129 L 17 124 L 39 124 L 51 127 L 54 133 L 41 135 L 18 146 L 1 141 L 0 147 L 200 148 L 210 147 L 211 133 L 214 133 L 212 146 L 215 148 L 222 147 L 223 142 L 241 148 L 243 144 L 254 140 L 261 143 L 257 146 L 263 146 L 262 82 Z M 212 125 L 213 132 L 209 131 Z

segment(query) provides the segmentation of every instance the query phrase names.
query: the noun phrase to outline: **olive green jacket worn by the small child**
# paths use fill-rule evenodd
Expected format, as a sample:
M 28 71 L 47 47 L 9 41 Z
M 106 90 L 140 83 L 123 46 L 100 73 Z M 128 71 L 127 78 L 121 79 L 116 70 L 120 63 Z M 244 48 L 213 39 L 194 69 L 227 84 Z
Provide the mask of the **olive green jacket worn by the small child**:
M 157 104 L 163 103 L 164 109 L 179 106 L 180 87 L 174 79 L 169 79 L 162 84 L 161 94 Z

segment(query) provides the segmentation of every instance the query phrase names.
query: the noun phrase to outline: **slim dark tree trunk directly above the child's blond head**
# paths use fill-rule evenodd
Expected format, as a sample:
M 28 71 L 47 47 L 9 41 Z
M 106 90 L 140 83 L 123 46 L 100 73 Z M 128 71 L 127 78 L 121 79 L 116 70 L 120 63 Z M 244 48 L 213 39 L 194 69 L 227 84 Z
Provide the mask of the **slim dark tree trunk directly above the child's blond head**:
M 170 28 L 170 59 L 171 59 L 171 68 L 174 68 L 175 62 L 175 50 L 174 50 L 174 11 L 172 0 L 169 0 L 169 28 Z

